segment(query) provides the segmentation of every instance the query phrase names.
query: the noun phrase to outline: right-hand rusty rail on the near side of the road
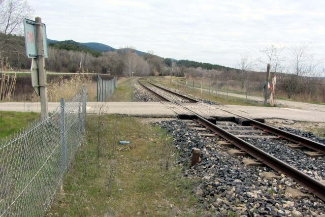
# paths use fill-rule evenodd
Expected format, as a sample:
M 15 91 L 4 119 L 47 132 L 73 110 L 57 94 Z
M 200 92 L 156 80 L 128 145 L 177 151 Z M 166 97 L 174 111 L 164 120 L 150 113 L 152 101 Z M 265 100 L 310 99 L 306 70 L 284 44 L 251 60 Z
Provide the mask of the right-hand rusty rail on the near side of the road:
M 221 108 L 219 108 L 219 109 L 222 110 L 222 111 L 226 111 L 226 110 L 221 109 Z M 230 111 L 226 111 L 226 112 L 234 114 L 234 113 L 232 113 Z M 303 145 L 303 146 L 305 146 L 307 148 L 310 148 L 312 150 L 315 150 L 317 152 L 325 154 L 325 145 L 324 144 L 321 144 L 319 142 L 307 139 L 305 137 L 302 137 L 302 136 L 299 136 L 299 135 L 296 135 L 296 134 L 293 134 L 293 133 L 290 133 L 290 132 L 287 132 L 287 131 L 284 131 L 284 130 L 281 130 L 281 129 L 278 129 L 278 128 L 275 128 L 275 127 L 272 127 L 272 126 L 268 126 L 265 123 L 261 123 L 259 121 L 253 120 L 253 119 L 248 118 L 248 117 L 244 117 L 244 116 L 241 116 L 241 115 L 238 115 L 238 114 L 234 114 L 234 115 L 237 115 L 239 117 L 242 117 L 242 118 L 245 118 L 245 119 L 249 120 L 250 125 L 253 126 L 253 127 L 264 130 L 264 131 L 266 131 L 268 133 L 271 133 L 271 134 L 274 134 L 274 135 L 276 135 L 276 136 L 278 136 L 280 138 L 287 139 L 287 140 L 289 140 L 291 142 L 295 142 L 297 144 Z

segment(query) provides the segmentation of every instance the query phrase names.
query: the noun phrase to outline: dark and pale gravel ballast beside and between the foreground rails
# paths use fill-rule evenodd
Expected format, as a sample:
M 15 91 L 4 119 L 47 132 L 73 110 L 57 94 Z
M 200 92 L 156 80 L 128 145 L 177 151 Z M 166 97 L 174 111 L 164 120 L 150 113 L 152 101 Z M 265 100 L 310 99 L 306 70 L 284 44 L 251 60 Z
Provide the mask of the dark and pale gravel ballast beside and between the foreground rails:
M 294 199 L 288 191 L 301 189 L 295 181 L 268 167 L 246 166 L 242 163 L 244 157 L 232 156 L 227 152 L 229 148 L 217 144 L 217 141 L 223 141 L 222 138 L 200 137 L 197 131 L 187 128 L 180 120 L 159 121 L 156 124 L 174 136 L 174 145 L 179 150 L 177 164 L 183 168 L 184 177 L 193 180 L 193 194 L 200 200 L 198 207 L 211 215 L 228 213 L 238 216 L 325 216 L 323 201 L 310 194 Z M 274 145 L 268 142 L 263 141 L 263 145 Z M 192 148 L 201 150 L 201 161 L 193 167 L 190 166 Z M 304 165 L 300 157 L 291 154 L 290 149 L 286 149 L 284 145 L 278 145 L 273 154 L 276 155 L 277 152 L 287 152 L 288 156 L 285 158 L 288 163 L 291 161 Z M 312 161 L 315 164 L 310 164 Z M 304 162 L 305 165 L 317 167 L 323 160 L 311 160 L 304 156 Z M 297 164 L 293 163 L 293 166 Z M 307 173 L 315 171 L 313 166 L 312 170 L 305 168 Z M 322 178 L 323 167 L 318 165 L 318 169 L 317 175 Z M 269 172 L 275 172 L 276 178 L 269 178 Z

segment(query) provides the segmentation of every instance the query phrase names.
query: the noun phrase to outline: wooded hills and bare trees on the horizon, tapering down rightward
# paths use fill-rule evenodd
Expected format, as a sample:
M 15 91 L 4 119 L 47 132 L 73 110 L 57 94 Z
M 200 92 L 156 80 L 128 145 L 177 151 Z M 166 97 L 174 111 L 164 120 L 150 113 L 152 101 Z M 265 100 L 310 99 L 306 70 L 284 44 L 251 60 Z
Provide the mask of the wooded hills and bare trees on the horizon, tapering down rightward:
M 24 38 L 0 33 L 2 55 L 15 71 L 29 70 L 30 59 L 25 55 Z M 12 48 L 15 48 L 13 51 Z M 107 50 L 103 52 L 103 50 Z M 134 47 L 115 49 L 100 43 L 78 43 L 73 40 L 48 40 L 49 57 L 45 59 L 48 71 L 93 72 L 115 75 L 176 75 L 183 76 L 187 68 L 230 70 L 231 68 L 199 63 L 191 60 L 162 58 Z

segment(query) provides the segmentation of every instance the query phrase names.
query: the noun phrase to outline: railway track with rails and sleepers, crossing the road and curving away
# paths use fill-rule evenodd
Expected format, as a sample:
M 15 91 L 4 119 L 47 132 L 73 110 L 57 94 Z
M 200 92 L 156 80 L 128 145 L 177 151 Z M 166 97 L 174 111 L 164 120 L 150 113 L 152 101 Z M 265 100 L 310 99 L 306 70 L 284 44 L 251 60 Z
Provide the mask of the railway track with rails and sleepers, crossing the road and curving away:
M 150 83 L 150 85 L 160 90 L 164 90 L 168 92 L 168 94 L 173 94 L 179 98 L 184 98 L 185 101 L 188 101 L 190 103 L 202 103 L 198 100 L 185 97 L 181 94 L 178 94 L 176 92 L 173 92 L 161 86 L 155 85 L 153 83 Z M 161 93 L 157 94 L 153 88 L 151 88 L 150 91 L 152 92 L 152 94 L 159 95 L 160 99 L 164 98 L 161 96 Z M 170 100 L 168 98 L 164 98 L 164 101 L 170 101 Z M 182 106 L 184 109 L 193 113 L 193 115 L 196 115 L 195 121 L 200 126 L 203 126 L 205 129 L 208 129 L 209 131 L 213 132 L 213 134 L 210 133 L 210 134 L 202 134 L 202 135 L 222 137 L 226 141 L 229 141 L 231 144 L 237 146 L 242 152 L 248 153 L 251 157 L 256 159 L 258 162 L 262 162 L 263 164 L 274 169 L 275 171 L 285 174 L 290 178 L 293 178 L 297 183 L 305 187 L 308 192 L 314 194 L 316 197 L 325 201 L 325 184 L 315 179 L 314 177 L 304 173 L 303 171 L 298 170 L 296 167 L 291 166 L 288 163 L 285 163 L 283 159 L 280 160 L 279 158 L 275 157 L 274 156 L 275 154 L 268 153 L 265 150 L 265 148 L 263 149 L 262 147 L 263 145 L 259 145 L 260 147 L 258 147 L 258 145 L 256 145 L 258 143 L 256 142 L 256 140 L 274 139 L 274 140 L 280 140 L 281 143 L 283 143 L 284 145 L 287 145 L 289 143 L 293 148 L 305 147 L 314 151 L 311 152 L 311 156 L 313 156 L 313 154 L 314 156 L 321 156 L 322 154 L 324 154 L 325 145 L 274 128 L 272 126 L 265 125 L 262 122 L 234 113 L 232 114 L 243 119 L 243 121 L 241 121 L 242 123 L 241 126 L 234 126 L 236 125 L 234 122 L 231 123 L 231 122 L 224 122 L 224 121 L 223 122 L 215 121 L 213 123 L 207 120 L 206 118 L 198 115 L 197 113 L 191 111 L 190 109 L 184 107 L 179 102 L 182 101 L 176 101 L 174 103 L 177 104 L 178 106 Z M 206 104 L 205 106 L 209 106 L 209 105 Z M 229 111 L 224 110 L 224 112 L 229 112 Z M 254 144 L 251 144 L 250 142 L 252 141 L 252 139 L 254 139 Z

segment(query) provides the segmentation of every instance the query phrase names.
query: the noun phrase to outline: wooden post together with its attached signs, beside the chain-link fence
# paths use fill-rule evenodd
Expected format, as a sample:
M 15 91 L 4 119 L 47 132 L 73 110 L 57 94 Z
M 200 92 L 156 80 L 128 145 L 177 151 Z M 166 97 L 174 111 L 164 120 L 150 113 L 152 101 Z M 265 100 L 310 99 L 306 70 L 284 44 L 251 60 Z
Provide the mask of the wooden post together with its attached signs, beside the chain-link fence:
M 31 80 L 36 94 L 41 98 L 41 116 L 48 116 L 47 81 L 45 57 L 48 57 L 46 27 L 40 17 L 24 19 L 26 55 L 33 58 L 31 63 Z

